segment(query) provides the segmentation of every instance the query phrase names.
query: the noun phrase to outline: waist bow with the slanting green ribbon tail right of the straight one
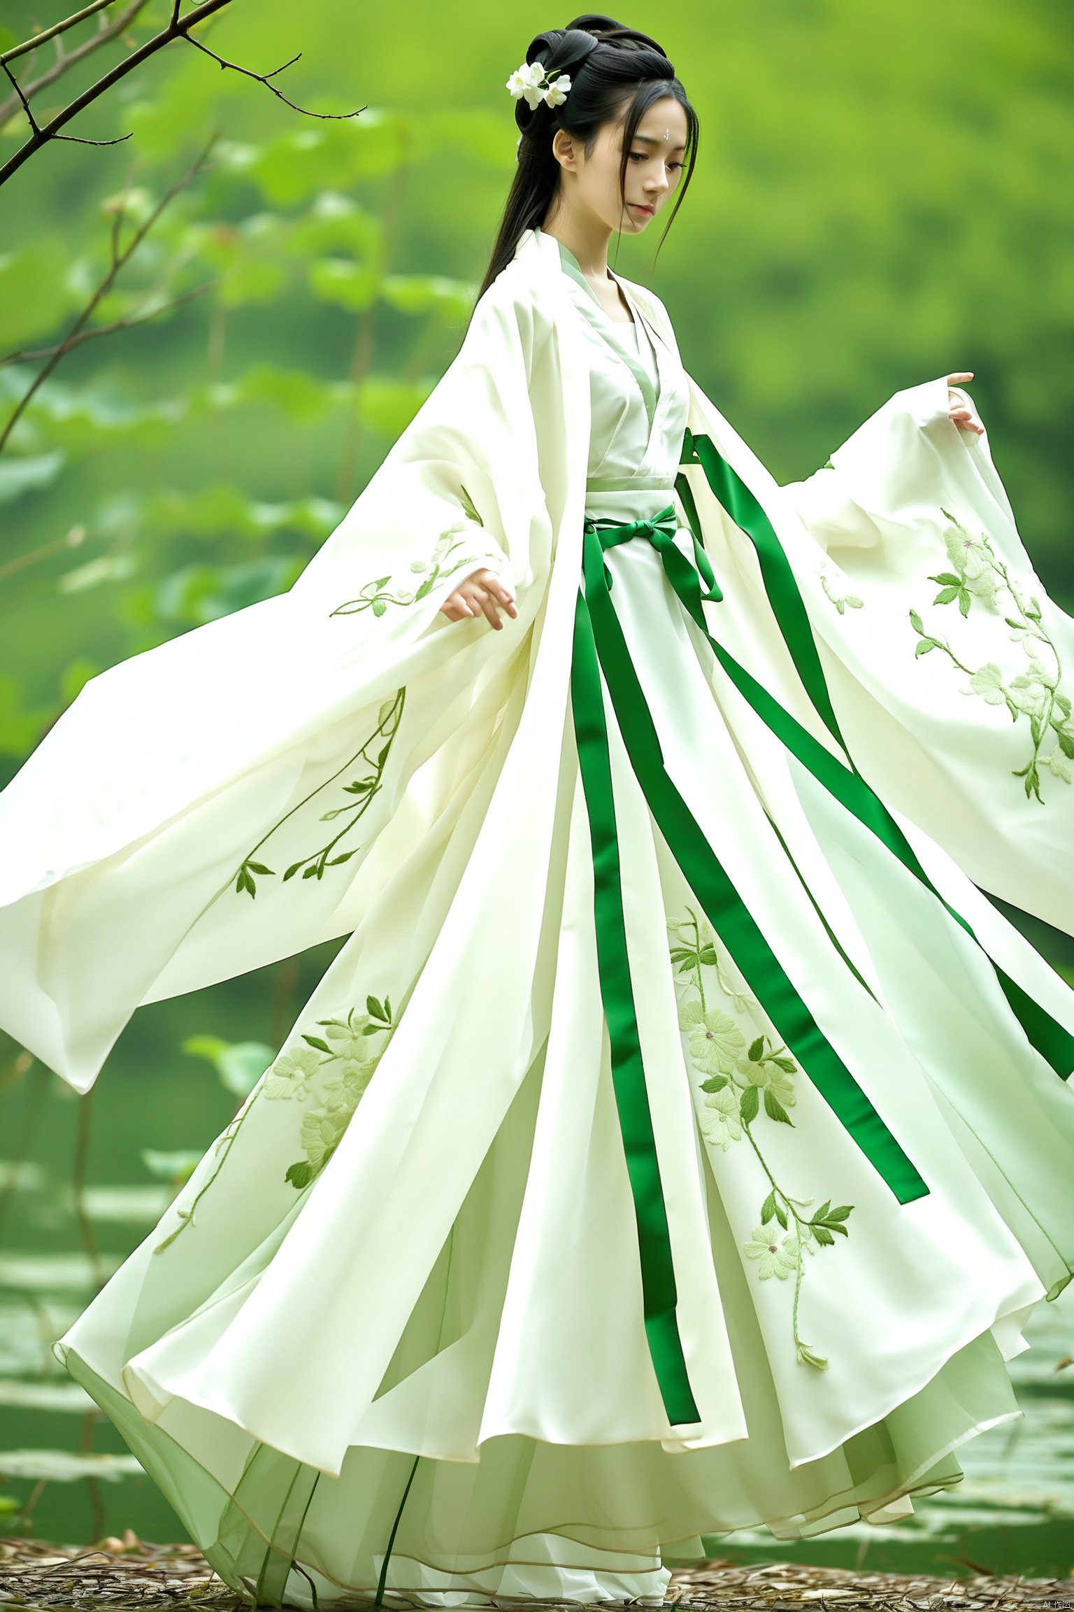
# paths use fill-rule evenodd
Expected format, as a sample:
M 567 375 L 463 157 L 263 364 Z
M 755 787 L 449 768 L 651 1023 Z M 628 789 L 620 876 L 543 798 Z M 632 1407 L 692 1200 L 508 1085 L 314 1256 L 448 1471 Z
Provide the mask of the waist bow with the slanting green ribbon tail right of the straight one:
M 688 571 L 692 571 L 673 542 L 667 511 L 649 521 L 601 522 L 599 527 L 594 521 L 586 521 L 583 535 L 585 600 L 580 603 L 575 619 L 575 658 L 585 664 L 596 653 L 631 767 L 649 809 L 705 914 L 723 937 L 749 988 L 776 1027 L 776 1033 L 797 1057 L 895 1198 L 900 1203 L 910 1203 L 927 1193 L 924 1180 L 823 1035 L 705 838 L 697 819 L 665 771 L 652 714 L 612 604 L 610 577 L 604 563 L 605 545 L 626 542 L 636 535 L 646 535 L 655 542 L 662 556 L 680 555 Z M 697 592 L 700 590 L 697 588 Z M 589 651 L 583 632 L 586 622 L 593 635 L 593 651 Z M 599 695 L 599 680 L 596 688 Z M 586 722 L 589 727 L 596 721 L 602 722 L 602 711 L 597 719 L 588 709 L 585 688 L 580 692 L 578 709 L 583 719 L 583 733 Z M 578 722 L 578 714 L 575 721 Z M 601 924 L 601 914 L 597 914 L 597 924 Z M 612 999 L 615 1004 L 615 991 L 612 991 Z

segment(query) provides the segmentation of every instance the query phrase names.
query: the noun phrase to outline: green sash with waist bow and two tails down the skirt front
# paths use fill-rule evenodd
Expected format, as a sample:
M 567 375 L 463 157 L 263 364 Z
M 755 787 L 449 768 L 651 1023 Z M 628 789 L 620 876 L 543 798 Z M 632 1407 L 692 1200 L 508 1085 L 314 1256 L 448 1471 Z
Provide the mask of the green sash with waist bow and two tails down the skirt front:
M 647 537 L 659 548 L 678 596 L 694 619 L 700 617 L 704 622 L 702 601 L 720 600 L 721 593 L 697 534 L 694 534 L 696 566 L 692 566 L 675 543 L 676 529 L 671 505 L 647 521 L 586 521 L 585 585 L 578 590 L 575 608 L 570 679 L 578 764 L 591 835 L 597 972 L 609 1027 L 612 1085 L 638 1225 L 646 1338 L 671 1425 L 697 1422 L 699 1414 L 678 1332 L 668 1217 L 631 983 L 601 672 L 649 809 L 778 1035 L 895 1198 L 910 1203 L 927 1193 L 923 1177 L 820 1030 L 663 767 L 652 714 L 610 600 L 604 548 L 631 537 Z

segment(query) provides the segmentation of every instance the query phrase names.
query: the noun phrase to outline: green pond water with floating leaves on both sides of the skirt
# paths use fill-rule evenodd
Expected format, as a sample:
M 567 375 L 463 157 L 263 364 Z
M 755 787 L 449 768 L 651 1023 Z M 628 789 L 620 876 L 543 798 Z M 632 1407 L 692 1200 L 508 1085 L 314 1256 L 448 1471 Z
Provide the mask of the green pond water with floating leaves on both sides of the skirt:
M 182 1053 L 180 1043 L 198 1033 L 279 1045 L 335 949 L 316 948 L 274 974 L 142 1009 L 109 1057 L 89 1111 L 43 1069 L 16 1069 L 6 1049 L 0 1062 L 0 1535 L 26 1530 L 81 1544 L 134 1528 L 145 1539 L 185 1538 L 111 1423 L 53 1359 L 52 1343 L 167 1204 L 172 1186 L 151 1170 L 166 1174 L 167 1164 L 153 1154 L 200 1153 L 233 1114 L 233 1085 L 229 1090 L 206 1056 Z M 71 1186 L 79 1135 L 82 1222 Z M 953 1575 L 1071 1573 L 1074 1283 L 1056 1302 L 1037 1307 L 1027 1338 L 1031 1348 L 1010 1362 L 1024 1415 L 961 1446 L 966 1477 L 956 1489 L 921 1501 L 897 1525 L 839 1528 L 794 1544 L 765 1530 L 741 1530 L 712 1538 L 712 1556 Z

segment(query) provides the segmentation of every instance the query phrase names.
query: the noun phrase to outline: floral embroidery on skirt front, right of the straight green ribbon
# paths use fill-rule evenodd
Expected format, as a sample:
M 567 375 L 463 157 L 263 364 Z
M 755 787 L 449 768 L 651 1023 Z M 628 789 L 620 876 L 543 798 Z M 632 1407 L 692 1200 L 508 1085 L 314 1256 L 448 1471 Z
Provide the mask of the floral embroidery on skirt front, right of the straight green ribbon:
M 689 975 L 689 985 L 680 1001 L 680 1028 L 688 1037 L 689 1057 L 705 1093 L 697 1111 L 697 1124 L 710 1148 L 723 1153 L 736 1141 L 749 1141 L 757 1162 L 768 1180 L 768 1196 L 760 1209 L 760 1224 L 742 1253 L 755 1262 L 760 1282 L 775 1277 L 786 1282 L 794 1275 L 794 1302 L 791 1328 L 794 1348 L 803 1365 L 820 1370 L 828 1367 L 823 1354 L 803 1343 L 799 1332 L 799 1301 L 805 1275 L 807 1256 L 818 1248 L 832 1248 L 836 1236 L 847 1236 L 845 1220 L 853 1204 L 832 1207 L 831 1198 L 807 1215 L 815 1199 L 792 1198 L 771 1172 L 763 1148 L 754 1133 L 762 1107 L 765 1117 L 778 1125 L 794 1125 L 787 1109 L 797 1103 L 794 1075 L 799 1067 L 786 1046 L 773 1046 L 768 1035 L 750 1035 L 739 1019 L 758 1014 L 760 1004 L 746 991 L 734 990 L 720 966 L 720 956 L 712 930 L 697 919 L 692 908 L 688 917 L 668 924 L 675 943 L 671 962 L 678 974 Z M 705 995 L 705 970 L 715 974 L 720 998 L 712 1003 Z M 712 988 L 712 978 L 710 978 Z M 728 1012 L 728 1004 L 734 1009 Z M 750 1027 L 752 1028 L 752 1027 Z

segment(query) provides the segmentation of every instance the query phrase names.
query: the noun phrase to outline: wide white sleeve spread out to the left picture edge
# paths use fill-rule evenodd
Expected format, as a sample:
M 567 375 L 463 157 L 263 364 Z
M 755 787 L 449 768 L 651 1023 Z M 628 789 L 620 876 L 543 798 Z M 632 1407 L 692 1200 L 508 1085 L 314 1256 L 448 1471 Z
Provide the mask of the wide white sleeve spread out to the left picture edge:
M 546 347 L 502 276 L 295 585 L 90 679 L 0 793 L 0 1027 L 79 1090 L 140 1003 L 349 933 L 475 787 L 554 548 Z M 501 629 L 441 613 L 478 566 Z

